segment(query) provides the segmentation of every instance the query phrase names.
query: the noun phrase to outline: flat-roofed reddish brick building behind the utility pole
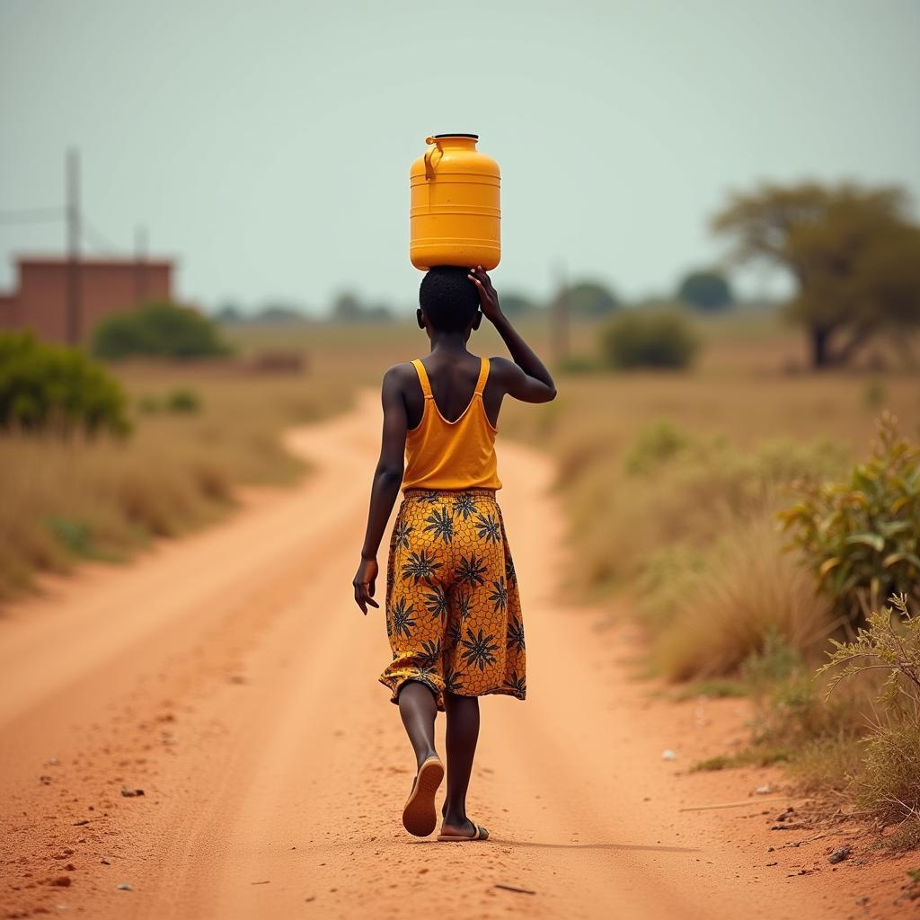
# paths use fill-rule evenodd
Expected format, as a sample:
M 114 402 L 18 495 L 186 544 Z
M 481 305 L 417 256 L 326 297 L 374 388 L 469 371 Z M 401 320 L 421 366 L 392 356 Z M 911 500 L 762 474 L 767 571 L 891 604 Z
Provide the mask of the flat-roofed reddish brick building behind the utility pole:
M 17 286 L 0 293 L 0 329 L 32 329 L 40 339 L 66 341 L 70 266 L 67 259 L 17 259 Z M 171 260 L 80 259 L 79 338 L 104 316 L 148 300 L 172 300 Z

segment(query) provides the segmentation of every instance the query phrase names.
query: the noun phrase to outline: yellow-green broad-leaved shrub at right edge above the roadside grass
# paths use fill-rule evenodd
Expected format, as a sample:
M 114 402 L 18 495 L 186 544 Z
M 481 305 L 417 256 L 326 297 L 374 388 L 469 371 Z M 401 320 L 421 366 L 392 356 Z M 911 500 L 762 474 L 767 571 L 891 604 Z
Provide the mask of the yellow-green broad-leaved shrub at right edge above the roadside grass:
M 899 436 L 890 413 L 868 462 L 800 496 L 780 519 L 850 623 L 891 594 L 920 601 L 920 445 Z

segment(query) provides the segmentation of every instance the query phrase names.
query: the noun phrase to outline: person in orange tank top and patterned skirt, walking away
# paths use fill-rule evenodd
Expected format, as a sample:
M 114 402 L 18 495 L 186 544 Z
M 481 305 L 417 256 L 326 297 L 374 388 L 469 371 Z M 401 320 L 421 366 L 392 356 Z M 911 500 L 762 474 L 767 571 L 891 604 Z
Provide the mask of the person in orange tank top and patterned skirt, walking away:
M 377 549 L 401 485 L 386 567 L 393 660 L 380 681 L 399 706 L 418 767 L 403 824 L 420 837 L 437 824 L 434 799 L 444 765 L 434 748 L 434 719 L 442 710 L 447 796 L 438 840 L 485 840 L 488 831 L 466 816 L 479 696 L 526 695 L 517 575 L 495 499 L 501 488 L 496 426 L 505 396 L 548 402 L 556 386 L 502 314 L 481 267 L 431 269 L 419 301 L 419 326 L 431 351 L 384 375 L 383 443 L 354 597 L 365 615 L 368 605 L 378 606 Z M 483 316 L 513 361 L 467 351 Z

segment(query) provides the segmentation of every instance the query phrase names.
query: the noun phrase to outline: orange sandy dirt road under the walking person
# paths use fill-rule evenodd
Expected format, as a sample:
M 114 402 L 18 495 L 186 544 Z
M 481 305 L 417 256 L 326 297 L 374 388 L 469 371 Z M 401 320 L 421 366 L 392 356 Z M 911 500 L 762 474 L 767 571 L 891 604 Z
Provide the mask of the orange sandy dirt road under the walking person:
M 677 820 L 703 790 L 675 784 L 596 612 L 560 604 L 550 469 L 513 444 L 502 505 L 530 698 L 483 704 L 471 815 L 492 840 L 405 834 L 413 762 L 376 683 L 385 630 L 350 589 L 378 415 L 363 397 L 293 432 L 314 467 L 297 489 L 0 621 L 0 913 L 850 915 L 771 881 L 724 822 Z

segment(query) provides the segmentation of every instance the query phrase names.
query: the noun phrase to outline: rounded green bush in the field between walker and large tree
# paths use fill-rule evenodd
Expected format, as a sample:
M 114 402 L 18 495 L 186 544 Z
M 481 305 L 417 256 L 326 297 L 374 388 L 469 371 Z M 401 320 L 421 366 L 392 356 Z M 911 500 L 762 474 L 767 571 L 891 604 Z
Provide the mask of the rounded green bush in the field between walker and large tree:
M 604 361 L 622 370 L 681 370 L 693 362 L 698 348 L 699 339 L 684 316 L 673 312 L 631 310 L 617 316 L 601 333 Z

